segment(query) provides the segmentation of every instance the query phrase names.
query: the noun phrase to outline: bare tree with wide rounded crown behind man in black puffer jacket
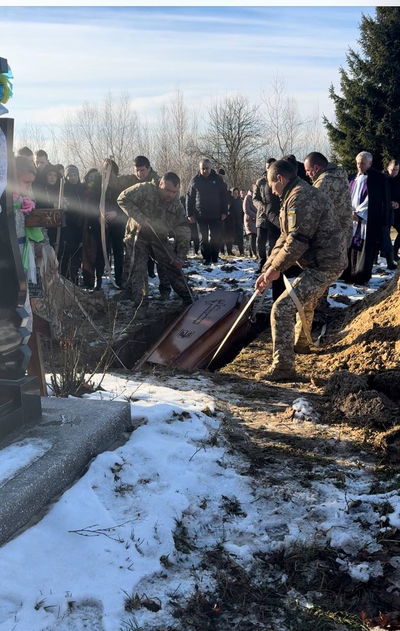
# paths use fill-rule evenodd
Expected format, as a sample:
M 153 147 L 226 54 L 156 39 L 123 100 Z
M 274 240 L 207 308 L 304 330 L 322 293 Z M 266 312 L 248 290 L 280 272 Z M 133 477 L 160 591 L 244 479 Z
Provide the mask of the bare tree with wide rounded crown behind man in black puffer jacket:
M 243 186 L 259 163 L 262 136 L 259 106 L 238 93 L 211 103 L 201 146 L 204 155 L 225 168 L 230 186 Z

